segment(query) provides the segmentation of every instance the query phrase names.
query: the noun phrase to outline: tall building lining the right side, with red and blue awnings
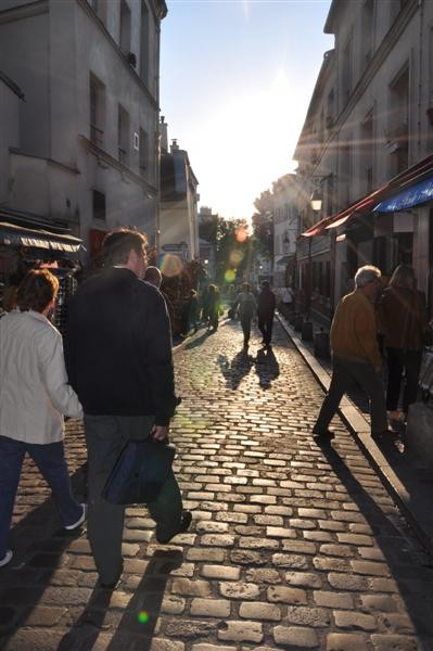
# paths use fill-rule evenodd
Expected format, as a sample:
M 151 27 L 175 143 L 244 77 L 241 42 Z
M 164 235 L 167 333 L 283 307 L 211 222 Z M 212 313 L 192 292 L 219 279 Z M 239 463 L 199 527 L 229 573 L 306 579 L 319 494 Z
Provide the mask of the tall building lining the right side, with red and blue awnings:
M 328 320 L 364 264 L 385 276 L 412 265 L 431 304 L 433 4 L 333 0 L 324 31 L 335 47 L 324 54 L 294 156 L 303 184 L 322 197 L 316 213 L 305 200 L 298 277 Z M 419 183 L 426 189 L 415 196 Z M 320 310 L 315 299 L 326 304 L 327 293 Z

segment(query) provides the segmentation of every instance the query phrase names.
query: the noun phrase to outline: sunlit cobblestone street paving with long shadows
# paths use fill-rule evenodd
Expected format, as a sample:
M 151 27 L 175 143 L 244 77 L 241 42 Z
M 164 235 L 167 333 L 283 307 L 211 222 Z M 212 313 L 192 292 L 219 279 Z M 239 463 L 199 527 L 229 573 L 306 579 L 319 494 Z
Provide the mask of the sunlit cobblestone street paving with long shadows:
M 341 421 L 310 430 L 322 393 L 279 324 L 265 352 L 239 324 L 176 354 L 176 467 L 191 532 L 157 546 L 128 510 L 118 588 L 94 588 L 86 533 L 59 528 L 30 463 L 0 570 L 8 651 L 433 650 L 433 567 Z M 78 494 L 85 449 L 68 423 Z

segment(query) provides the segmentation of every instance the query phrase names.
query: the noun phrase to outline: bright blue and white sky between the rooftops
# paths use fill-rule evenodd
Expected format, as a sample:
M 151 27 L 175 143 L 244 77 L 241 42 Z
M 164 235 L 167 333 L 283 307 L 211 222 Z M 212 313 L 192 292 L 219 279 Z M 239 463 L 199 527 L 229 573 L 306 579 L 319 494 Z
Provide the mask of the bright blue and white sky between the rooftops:
M 161 108 L 189 153 L 200 204 L 250 219 L 292 171 L 323 53 L 330 0 L 168 0 Z

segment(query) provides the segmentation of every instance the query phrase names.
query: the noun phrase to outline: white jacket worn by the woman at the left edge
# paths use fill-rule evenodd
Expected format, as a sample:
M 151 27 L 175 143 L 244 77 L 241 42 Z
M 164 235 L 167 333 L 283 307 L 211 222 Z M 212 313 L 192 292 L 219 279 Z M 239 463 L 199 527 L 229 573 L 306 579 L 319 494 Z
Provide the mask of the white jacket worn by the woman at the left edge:
M 0 317 L 0 435 L 25 443 L 63 439 L 63 416 L 82 418 L 63 357 L 62 336 L 41 314 Z

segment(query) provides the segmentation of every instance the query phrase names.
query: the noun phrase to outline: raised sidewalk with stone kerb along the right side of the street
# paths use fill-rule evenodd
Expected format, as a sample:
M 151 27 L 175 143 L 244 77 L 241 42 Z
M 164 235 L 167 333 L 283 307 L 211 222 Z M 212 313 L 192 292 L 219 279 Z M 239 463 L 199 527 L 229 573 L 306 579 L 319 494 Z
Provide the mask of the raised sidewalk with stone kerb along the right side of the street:
M 313 342 L 302 341 L 281 314 L 278 312 L 277 317 L 316 380 L 323 391 L 328 391 L 331 362 L 317 359 L 313 354 Z M 370 436 L 369 417 L 365 410 L 364 396 L 358 396 L 355 392 L 352 399 L 346 396 L 343 398 L 339 416 L 378 472 L 422 546 L 433 556 L 433 470 L 417 468 L 413 459 L 405 452 L 404 431 L 395 441 L 374 442 Z

